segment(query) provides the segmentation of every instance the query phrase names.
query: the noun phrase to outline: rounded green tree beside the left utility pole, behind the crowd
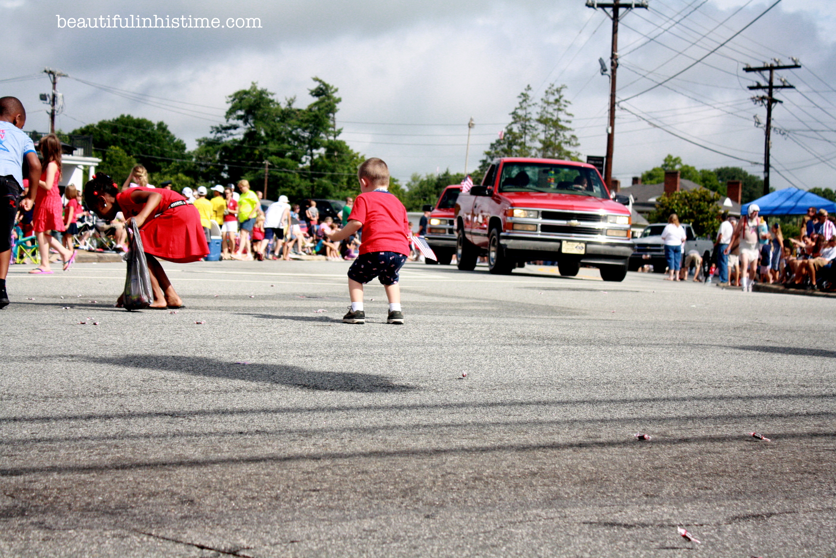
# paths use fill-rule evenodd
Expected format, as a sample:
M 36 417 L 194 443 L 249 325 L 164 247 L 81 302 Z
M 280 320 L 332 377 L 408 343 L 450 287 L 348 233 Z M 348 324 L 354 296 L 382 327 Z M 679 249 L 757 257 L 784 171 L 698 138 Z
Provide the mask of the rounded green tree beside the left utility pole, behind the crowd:
M 97 155 L 104 155 L 112 146 L 119 147 L 149 172 L 161 171 L 172 160 L 191 159 L 186 151 L 186 142 L 172 134 L 165 122 L 154 124 L 149 119 L 130 114 L 86 124 L 74 129 L 72 134 L 93 136 L 93 150 Z M 125 180 L 126 176 L 120 177 L 120 180 Z

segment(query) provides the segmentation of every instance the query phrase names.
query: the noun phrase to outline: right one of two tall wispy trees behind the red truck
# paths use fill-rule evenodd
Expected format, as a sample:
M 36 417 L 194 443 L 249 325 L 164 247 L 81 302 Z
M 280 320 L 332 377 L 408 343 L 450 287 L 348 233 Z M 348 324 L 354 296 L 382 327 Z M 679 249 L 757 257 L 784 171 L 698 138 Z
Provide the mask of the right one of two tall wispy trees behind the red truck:
M 579 154 L 572 151 L 579 142 L 568 124 L 569 101 L 563 97 L 565 85 L 550 84 L 540 99 L 540 111 L 535 122 L 538 124 L 538 155 L 544 159 L 579 160 Z

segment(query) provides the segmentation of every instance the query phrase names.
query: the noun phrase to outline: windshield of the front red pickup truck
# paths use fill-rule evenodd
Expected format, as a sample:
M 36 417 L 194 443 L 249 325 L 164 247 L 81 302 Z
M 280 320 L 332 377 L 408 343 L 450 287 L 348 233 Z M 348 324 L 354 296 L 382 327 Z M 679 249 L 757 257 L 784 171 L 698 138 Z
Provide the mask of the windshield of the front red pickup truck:
M 549 163 L 506 163 L 499 177 L 501 192 L 548 192 L 608 198 L 594 169 Z

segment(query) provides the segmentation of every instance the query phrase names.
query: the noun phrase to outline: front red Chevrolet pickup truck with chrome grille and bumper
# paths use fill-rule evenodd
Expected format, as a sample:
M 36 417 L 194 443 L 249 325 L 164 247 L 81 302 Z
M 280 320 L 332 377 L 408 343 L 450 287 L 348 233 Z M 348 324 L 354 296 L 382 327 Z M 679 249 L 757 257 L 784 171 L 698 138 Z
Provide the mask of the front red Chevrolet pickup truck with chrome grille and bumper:
M 598 170 L 575 161 L 494 160 L 482 185 L 462 192 L 454 209 L 458 268 L 487 255 L 492 273 L 526 261 L 557 261 L 561 275 L 598 267 L 622 281 L 633 253 L 630 211 L 609 199 Z

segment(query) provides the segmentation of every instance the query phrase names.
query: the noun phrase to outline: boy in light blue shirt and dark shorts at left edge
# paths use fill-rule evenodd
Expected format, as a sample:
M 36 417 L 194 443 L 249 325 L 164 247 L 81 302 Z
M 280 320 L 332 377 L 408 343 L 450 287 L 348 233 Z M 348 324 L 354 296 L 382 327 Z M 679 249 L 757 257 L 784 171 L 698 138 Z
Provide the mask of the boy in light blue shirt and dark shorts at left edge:
M 32 209 L 38 180 L 41 178 L 41 162 L 35 145 L 23 133 L 26 109 L 16 97 L 0 98 L 0 308 L 8 306 L 6 275 L 12 259 L 12 229 L 18 206 L 23 211 Z M 29 195 L 23 194 L 23 161 L 29 165 Z

